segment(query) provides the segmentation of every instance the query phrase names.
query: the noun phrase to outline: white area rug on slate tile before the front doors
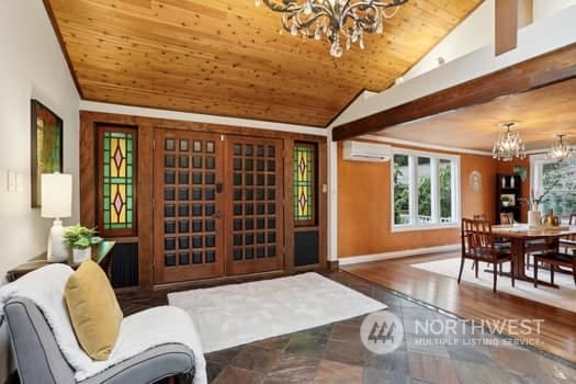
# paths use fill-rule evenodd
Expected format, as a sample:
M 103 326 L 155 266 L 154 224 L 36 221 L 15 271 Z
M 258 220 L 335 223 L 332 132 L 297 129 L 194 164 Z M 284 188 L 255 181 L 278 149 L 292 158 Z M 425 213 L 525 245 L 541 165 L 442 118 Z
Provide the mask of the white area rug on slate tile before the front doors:
M 192 317 L 206 353 L 386 308 L 317 273 L 174 292 L 168 302 Z

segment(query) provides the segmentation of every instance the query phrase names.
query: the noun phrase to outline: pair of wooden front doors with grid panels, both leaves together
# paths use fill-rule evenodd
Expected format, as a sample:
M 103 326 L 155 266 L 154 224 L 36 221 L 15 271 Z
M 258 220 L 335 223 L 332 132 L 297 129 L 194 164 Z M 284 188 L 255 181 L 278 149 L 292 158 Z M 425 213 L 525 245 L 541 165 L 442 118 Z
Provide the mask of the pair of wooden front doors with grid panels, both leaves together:
M 282 270 L 283 177 L 281 139 L 156 129 L 155 283 Z

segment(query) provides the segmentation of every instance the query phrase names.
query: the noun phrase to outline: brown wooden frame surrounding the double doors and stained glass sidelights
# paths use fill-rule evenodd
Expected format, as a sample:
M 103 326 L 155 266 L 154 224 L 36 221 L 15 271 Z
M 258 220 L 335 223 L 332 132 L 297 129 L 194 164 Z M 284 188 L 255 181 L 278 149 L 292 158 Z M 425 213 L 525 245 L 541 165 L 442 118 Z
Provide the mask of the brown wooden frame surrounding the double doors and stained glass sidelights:
M 291 154 L 294 140 L 317 143 L 318 145 L 318 224 L 319 224 L 319 263 L 307 266 L 306 268 L 294 268 L 294 225 L 290 222 L 291 204 L 284 208 L 284 245 L 285 245 L 285 269 L 281 274 L 292 273 L 295 270 L 312 270 L 326 268 L 326 241 L 327 241 L 327 193 L 324 185 L 328 183 L 327 163 L 327 137 L 292 132 L 280 132 L 273 129 L 259 129 L 249 127 L 238 127 L 221 124 L 196 123 L 168 118 L 144 117 L 135 115 L 124 115 L 93 111 L 80 111 L 80 139 L 79 139 L 79 161 L 80 161 L 80 221 L 84 226 L 95 225 L 95 126 L 98 124 L 115 124 L 137 127 L 138 129 L 138 231 L 139 234 L 154 233 L 154 213 L 151 202 L 154 197 L 154 131 L 156 128 L 184 129 L 210 132 L 224 135 L 240 135 L 253 137 L 281 138 L 284 140 L 284 150 Z M 292 166 L 286 161 L 284 169 L 284 196 L 290 202 L 293 191 L 290 184 L 292 179 Z M 154 289 L 154 241 L 151 236 L 137 236 L 129 239 L 131 242 L 138 242 L 138 278 L 137 289 Z M 259 274 L 260 276 L 278 275 L 274 273 Z M 247 276 L 253 279 L 255 276 Z M 210 284 L 215 282 L 238 281 L 239 278 L 215 279 L 213 281 L 187 282 L 178 285 L 193 286 Z

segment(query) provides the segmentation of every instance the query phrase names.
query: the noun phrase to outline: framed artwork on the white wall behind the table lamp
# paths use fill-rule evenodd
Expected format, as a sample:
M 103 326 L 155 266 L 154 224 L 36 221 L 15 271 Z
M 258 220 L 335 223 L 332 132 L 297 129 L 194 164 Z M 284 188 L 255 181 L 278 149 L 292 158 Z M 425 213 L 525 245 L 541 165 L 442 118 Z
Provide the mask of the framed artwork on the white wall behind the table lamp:
M 63 171 L 63 120 L 37 100 L 31 100 L 32 207 L 42 206 L 42 173 Z

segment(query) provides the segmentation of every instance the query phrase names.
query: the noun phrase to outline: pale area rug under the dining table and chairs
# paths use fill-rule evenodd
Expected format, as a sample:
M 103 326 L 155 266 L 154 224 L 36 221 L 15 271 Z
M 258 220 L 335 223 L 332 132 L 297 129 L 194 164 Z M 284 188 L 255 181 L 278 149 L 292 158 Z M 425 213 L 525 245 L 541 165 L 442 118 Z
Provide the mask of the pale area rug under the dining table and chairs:
M 462 281 L 486 286 L 487 289 L 492 290 L 493 274 L 490 272 L 484 271 L 486 269 L 485 262 L 481 262 L 479 266 L 481 268 L 478 272 L 478 279 L 476 279 L 474 276 L 474 270 L 472 269 L 472 261 L 466 260 L 464 263 L 464 271 L 462 272 Z M 443 274 L 456 280 L 458 272 L 460 271 L 460 258 L 411 264 L 411 267 Z M 504 271 L 507 271 L 510 268 L 508 263 L 504 264 L 502 267 Z M 488 268 L 492 268 L 492 266 Z M 534 269 L 530 267 L 530 270 L 527 270 L 527 274 L 532 275 L 533 271 Z M 550 282 L 550 272 L 544 269 L 539 269 L 538 280 Z M 512 287 L 510 278 L 498 275 L 496 289 L 498 292 L 506 292 L 511 295 L 532 300 L 534 302 L 576 312 L 576 285 L 574 284 L 572 274 L 556 272 L 554 273 L 554 283 L 557 284 L 560 289 L 544 285 L 538 285 L 538 287 L 534 287 L 531 282 L 519 280 L 516 280 L 516 286 Z

